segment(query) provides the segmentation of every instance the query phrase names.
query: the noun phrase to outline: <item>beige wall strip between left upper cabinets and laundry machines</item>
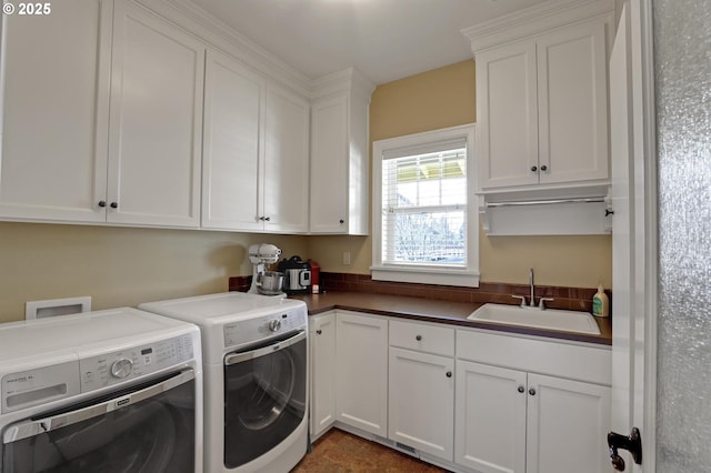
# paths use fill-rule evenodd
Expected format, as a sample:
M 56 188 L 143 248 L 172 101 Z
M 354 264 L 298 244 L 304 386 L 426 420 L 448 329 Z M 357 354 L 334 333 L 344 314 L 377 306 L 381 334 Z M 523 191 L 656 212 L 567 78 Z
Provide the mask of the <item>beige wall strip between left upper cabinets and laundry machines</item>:
M 99 310 L 227 291 L 262 241 L 306 253 L 304 236 L 0 223 L 0 322 L 24 319 L 26 301 L 91 295 Z

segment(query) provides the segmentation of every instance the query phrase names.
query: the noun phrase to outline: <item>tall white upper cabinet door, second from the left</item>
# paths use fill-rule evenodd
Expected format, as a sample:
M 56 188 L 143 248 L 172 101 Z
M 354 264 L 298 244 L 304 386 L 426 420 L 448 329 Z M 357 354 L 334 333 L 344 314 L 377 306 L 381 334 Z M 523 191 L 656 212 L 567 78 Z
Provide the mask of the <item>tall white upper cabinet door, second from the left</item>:
M 111 69 L 107 220 L 198 227 L 204 46 L 117 0 Z

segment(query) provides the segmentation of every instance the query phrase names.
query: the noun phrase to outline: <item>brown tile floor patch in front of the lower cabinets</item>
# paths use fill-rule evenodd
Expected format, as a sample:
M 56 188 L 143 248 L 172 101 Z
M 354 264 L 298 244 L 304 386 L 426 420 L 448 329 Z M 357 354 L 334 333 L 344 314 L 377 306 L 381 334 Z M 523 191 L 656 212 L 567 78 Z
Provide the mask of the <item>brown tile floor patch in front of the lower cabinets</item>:
M 311 453 L 291 473 L 443 473 L 434 465 L 361 439 L 338 429 L 331 429 L 314 444 Z

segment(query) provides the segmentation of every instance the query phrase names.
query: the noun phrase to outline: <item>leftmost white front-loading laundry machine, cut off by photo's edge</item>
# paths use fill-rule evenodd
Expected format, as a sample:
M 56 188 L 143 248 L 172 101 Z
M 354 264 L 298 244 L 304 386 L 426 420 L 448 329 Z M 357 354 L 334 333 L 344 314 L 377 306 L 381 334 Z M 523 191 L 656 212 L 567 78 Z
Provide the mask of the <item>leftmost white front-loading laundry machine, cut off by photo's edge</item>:
M 193 324 L 130 308 L 0 324 L 0 471 L 202 472 Z

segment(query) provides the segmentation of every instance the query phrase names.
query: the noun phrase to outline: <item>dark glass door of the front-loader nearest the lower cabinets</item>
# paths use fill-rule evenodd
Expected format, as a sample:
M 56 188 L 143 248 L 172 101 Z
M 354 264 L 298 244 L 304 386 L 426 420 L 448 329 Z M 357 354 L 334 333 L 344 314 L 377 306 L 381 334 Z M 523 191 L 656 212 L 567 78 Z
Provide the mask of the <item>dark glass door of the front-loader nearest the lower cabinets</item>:
M 306 415 L 307 340 L 299 332 L 226 358 L 224 466 L 241 466 L 281 443 Z

